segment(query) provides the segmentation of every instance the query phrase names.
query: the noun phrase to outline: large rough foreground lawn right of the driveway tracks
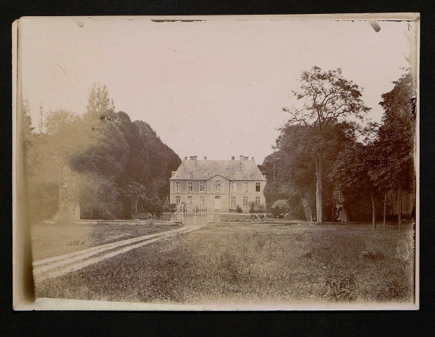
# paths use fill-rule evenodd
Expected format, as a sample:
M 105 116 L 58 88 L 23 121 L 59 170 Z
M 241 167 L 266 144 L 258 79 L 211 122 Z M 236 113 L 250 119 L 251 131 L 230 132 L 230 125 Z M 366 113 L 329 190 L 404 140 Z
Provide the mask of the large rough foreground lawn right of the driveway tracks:
M 413 232 L 208 224 L 62 277 L 37 297 L 147 303 L 413 301 Z

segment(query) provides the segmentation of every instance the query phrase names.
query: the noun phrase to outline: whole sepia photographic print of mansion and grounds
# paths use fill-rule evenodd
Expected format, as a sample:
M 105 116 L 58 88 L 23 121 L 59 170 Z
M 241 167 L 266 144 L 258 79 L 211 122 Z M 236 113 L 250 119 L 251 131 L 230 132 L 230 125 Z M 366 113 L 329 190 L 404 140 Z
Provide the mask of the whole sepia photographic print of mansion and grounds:
M 23 17 L 15 310 L 418 310 L 418 13 Z

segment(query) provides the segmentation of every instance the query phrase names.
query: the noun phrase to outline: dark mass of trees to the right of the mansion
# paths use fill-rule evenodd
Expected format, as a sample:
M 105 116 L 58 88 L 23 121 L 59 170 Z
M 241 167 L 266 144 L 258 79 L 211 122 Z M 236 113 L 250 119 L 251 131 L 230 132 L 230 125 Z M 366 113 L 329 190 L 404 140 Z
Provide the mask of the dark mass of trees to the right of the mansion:
M 375 227 L 395 205 L 400 227 L 403 191 L 415 192 L 415 81 L 407 70 L 393 84 L 379 103 L 382 121 L 362 126 L 349 119 L 369 110 L 362 90 L 341 70 L 303 72 L 294 95 L 304 105 L 283 109 L 290 119 L 260 165 L 267 208 L 320 223 L 370 219 Z

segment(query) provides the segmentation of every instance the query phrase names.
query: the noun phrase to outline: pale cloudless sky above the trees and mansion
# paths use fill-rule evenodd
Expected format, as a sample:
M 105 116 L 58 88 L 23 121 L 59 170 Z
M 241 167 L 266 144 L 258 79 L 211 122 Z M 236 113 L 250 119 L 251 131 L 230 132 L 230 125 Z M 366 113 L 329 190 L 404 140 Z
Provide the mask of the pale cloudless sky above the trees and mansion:
M 181 158 L 261 164 L 292 105 L 304 70 L 341 67 L 363 87 L 379 121 L 380 95 L 408 67 L 415 22 L 236 20 L 152 22 L 148 18 L 24 18 L 23 97 L 34 124 L 60 108 L 82 114 L 94 82 L 117 111 L 146 121 Z M 83 26 L 83 27 L 80 27 Z

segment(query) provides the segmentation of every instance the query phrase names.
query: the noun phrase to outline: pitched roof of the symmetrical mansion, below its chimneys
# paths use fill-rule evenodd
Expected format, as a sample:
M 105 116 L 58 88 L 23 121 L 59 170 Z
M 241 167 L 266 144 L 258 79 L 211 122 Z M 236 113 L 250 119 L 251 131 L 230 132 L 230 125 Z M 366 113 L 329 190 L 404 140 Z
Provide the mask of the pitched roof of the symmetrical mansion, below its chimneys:
M 207 180 L 219 174 L 230 180 L 266 180 L 253 160 L 185 160 L 171 180 Z

